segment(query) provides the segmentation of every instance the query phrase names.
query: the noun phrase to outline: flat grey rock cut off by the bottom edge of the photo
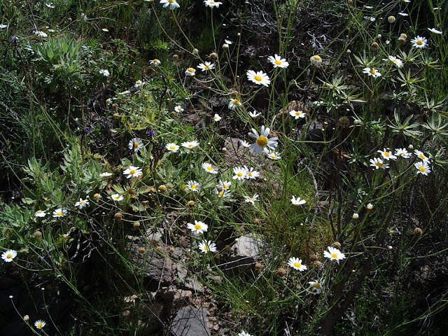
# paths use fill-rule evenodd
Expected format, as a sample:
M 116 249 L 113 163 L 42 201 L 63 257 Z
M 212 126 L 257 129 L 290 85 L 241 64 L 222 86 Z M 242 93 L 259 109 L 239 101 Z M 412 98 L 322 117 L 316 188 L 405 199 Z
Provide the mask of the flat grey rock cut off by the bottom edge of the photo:
M 210 336 L 207 309 L 181 308 L 174 316 L 173 336 Z

